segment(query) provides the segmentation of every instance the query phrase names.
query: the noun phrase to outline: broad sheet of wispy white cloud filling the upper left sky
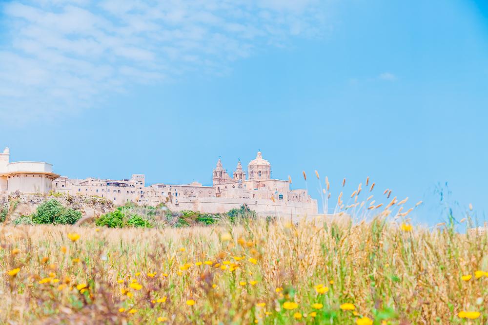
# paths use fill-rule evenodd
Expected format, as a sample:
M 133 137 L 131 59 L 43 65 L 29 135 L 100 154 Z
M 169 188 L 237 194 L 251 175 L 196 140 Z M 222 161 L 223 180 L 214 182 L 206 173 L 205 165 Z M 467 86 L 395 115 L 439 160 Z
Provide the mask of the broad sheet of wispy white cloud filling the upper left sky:
M 322 4 L 310 0 L 38 0 L 0 9 L 0 113 L 16 121 L 97 106 L 132 83 L 219 75 L 262 47 L 320 36 L 325 24 Z

